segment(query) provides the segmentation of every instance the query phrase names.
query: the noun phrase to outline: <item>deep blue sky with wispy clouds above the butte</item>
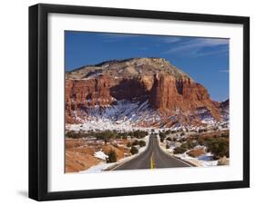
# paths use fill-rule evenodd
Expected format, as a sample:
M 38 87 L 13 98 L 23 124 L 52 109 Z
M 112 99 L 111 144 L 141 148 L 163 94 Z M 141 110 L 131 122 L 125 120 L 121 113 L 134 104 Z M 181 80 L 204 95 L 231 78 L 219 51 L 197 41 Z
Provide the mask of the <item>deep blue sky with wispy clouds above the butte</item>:
M 229 98 L 229 40 L 188 36 L 65 32 L 65 66 L 131 57 L 166 58 L 203 84 L 216 101 Z

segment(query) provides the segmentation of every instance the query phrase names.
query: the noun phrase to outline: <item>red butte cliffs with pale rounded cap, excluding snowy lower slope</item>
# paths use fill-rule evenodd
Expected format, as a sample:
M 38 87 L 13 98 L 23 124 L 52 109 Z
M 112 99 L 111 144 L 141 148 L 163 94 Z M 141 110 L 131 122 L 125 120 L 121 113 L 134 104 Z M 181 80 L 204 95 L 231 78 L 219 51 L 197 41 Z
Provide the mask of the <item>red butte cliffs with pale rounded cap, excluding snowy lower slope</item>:
M 187 116 L 182 121 L 189 123 L 189 115 L 203 109 L 221 120 L 220 102 L 211 100 L 202 84 L 163 58 L 114 60 L 66 73 L 67 123 L 78 123 L 76 116 L 86 119 L 88 108 L 108 109 L 118 100 L 148 101 L 162 119 L 179 111 Z

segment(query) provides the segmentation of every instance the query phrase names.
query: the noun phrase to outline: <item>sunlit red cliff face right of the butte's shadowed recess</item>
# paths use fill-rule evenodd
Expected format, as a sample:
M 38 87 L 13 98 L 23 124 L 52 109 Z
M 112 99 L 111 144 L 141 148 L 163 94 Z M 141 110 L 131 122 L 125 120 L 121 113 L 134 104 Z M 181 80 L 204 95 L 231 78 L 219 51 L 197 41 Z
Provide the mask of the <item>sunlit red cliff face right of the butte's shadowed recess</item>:
M 156 75 L 149 95 L 150 104 L 162 113 L 191 112 L 206 107 L 216 120 L 220 113 L 216 103 L 210 100 L 207 90 L 188 77 L 176 79 L 169 75 Z

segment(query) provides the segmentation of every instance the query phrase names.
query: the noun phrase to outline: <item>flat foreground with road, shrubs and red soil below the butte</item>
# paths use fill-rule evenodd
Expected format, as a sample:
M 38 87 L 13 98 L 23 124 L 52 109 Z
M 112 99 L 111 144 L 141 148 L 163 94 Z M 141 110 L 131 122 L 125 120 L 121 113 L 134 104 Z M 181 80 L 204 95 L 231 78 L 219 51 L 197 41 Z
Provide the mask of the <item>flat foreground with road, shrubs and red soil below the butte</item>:
M 109 131 L 109 133 L 112 132 Z M 77 132 L 77 135 L 75 133 L 70 135 L 71 132 L 67 132 L 66 172 L 148 169 L 152 168 L 151 163 L 153 163 L 153 168 L 172 168 L 182 167 L 182 161 L 185 162 L 183 164 L 197 167 L 229 164 L 229 159 L 226 156 L 222 156 L 222 154 L 217 158 L 208 148 L 208 146 L 224 146 L 223 149 L 229 149 L 225 147 L 229 142 L 228 131 L 198 134 L 151 129 L 150 132 L 147 132 L 147 136 L 143 135 L 144 137 L 135 137 L 133 132 L 115 131 L 115 137 L 109 137 L 108 141 L 102 138 L 108 132 L 99 132 L 96 135 L 95 132 L 92 132 L 83 137 L 78 137 L 81 132 Z M 125 135 L 122 135 L 124 133 Z M 145 134 L 145 131 L 141 133 Z M 68 137 L 68 134 L 72 138 Z M 115 153 L 114 160 L 110 159 L 111 151 Z M 227 153 L 225 154 L 227 155 Z M 176 159 L 181 161 L 178 163 L 179 165 L 175 162 L 178 161 Z

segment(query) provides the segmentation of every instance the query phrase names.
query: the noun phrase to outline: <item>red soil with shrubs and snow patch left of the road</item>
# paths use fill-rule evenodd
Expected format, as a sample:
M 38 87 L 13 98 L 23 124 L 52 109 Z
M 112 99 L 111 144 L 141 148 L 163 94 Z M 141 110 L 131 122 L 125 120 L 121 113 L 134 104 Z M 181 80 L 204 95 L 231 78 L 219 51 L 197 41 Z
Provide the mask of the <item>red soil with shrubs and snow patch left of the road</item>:
M 146 146 L 145 131 L 67 131 L 66 171 L 84 171 L 100 161 L 113 163 Z M 87 161 L 87 163 L 85 163 Z

